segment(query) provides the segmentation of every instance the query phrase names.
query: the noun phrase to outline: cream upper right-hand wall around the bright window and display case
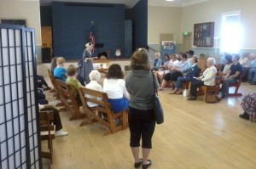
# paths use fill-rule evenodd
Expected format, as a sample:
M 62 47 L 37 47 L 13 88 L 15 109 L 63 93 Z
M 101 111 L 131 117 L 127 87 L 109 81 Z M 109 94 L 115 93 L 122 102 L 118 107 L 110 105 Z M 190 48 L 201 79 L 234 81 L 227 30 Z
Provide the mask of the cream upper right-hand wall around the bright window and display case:
M 215 36 L 220 37 L 221 14 L 241 11 L 241 24 L 244 28 L 242 49 L 256 49 L 256 2 L 255 0 L 211 0 L 205 3 L 183 7 L 181 31 L 194 32 L 194 24 L 215 22 Z M 235 35 L 234 35 L 235 36 Z

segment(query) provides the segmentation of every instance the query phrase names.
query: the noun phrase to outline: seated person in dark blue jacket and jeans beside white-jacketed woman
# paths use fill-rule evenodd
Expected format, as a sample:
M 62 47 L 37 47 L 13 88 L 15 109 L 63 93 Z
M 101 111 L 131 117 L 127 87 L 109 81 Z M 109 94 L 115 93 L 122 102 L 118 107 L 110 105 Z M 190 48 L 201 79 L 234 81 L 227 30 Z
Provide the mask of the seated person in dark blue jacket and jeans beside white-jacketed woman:
M 177 77 L 177 82 L 175 85 L 175 89 L 170 94 L 182 94 L 183 90 L 181 89 L 183 82 L 194 82 L 196 81 L 194 77 L 199 76 L 199 66 L 197 65 L 198 58 L 196 56 L 192 56 L 190 59 L 191 67 L 189 68 L 187 73 L 184 73 L 183 76 Z

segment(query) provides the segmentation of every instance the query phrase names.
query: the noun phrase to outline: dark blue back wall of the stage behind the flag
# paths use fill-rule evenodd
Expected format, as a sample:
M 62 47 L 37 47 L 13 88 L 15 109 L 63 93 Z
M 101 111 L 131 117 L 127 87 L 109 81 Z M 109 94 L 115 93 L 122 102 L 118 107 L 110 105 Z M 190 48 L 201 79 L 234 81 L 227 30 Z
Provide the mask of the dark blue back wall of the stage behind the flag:
M 109 49 L 114 57 L 115 49 L 124 51 L 125 7 L 123 4 L 52 3 L 54 55 L 66 59 L 81 59 L 84 44 L 89 42 L 90 25 L 94 21 L 96 43 Z

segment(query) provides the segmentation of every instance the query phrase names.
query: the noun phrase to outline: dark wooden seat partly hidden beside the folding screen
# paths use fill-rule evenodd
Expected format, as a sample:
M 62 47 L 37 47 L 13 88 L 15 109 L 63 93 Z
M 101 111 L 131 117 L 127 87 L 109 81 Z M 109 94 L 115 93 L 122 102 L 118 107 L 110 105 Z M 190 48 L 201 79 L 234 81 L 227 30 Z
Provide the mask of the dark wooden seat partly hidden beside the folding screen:
M 42 140 L 48 141 L 49 151 L 42 150 L 42 157 L 50 160 L 52 164 L 53 158 L 53 145 L 52 140 L 55 139 L 55 127 L 51 125 L 50 121 L 54 120 L 53 111 L 40 111 L 39 112 L 39 129 L 40 129 L 40 138 Z

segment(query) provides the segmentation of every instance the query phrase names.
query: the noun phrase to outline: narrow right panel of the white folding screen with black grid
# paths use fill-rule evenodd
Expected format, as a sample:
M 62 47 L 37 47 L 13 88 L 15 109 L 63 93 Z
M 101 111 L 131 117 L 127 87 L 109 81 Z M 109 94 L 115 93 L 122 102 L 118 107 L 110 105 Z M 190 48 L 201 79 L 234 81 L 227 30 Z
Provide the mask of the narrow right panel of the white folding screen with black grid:
M 27 102 L 27 120 L 28 120 L 28 134 L 30 144 L 30 161 L 32 168 L 39 168 L 39 156 L 38 156 L 38 115 L 36 111 L 35 102 L 35 75 L 34 66 L 34 47 L 33 47 L 33 35 L 32 31 L 25 31 L 25 60 L 26 60 L 26 102 Z

